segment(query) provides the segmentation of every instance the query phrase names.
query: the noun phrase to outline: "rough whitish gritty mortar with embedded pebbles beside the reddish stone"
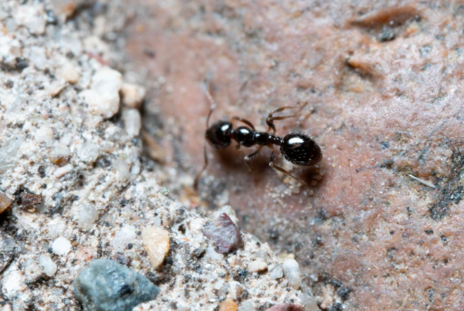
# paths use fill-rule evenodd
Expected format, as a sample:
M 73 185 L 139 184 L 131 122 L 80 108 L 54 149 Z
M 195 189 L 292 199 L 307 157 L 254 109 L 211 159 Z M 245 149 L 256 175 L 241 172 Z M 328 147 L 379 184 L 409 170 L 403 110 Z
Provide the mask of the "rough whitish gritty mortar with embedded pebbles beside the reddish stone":
M 273 271 L 280 259 L 239 231 L 230 206 L 219 215 L 240 248 L 221 254 L 202 234 L 219 215 L 193 193 L 178 198 L 161 185 L 176 172 L 143 155 L 156 139 L 142 141 L 143 75 L 124 70 L 118 49 L 134 12 L 120 4 L 0 1 L 1 310 L 82 310 L 75 292 L 98 310 L 104 295 L 82 286 L 102 258 L 160 288 L 137 311 L 317 310 L 309 288 L 247 272 L 257 260 Z M 191 180 L 180 178 L 177 189 Z M 108 297 L 127 298 L 120 289 Z

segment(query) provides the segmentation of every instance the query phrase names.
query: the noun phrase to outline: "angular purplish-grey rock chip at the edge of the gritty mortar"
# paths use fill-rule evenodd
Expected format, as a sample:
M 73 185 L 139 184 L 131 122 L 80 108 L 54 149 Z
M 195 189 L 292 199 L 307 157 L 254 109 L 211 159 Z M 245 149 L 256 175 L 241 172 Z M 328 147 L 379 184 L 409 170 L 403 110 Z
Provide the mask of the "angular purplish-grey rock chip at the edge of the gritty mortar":
M 224 212 L 218 220 L 206 224 L 203 235 L 212 241 L 217 253 L 226 254 L 238 248 L 243 248 L 243 240 L 236 224 Z

